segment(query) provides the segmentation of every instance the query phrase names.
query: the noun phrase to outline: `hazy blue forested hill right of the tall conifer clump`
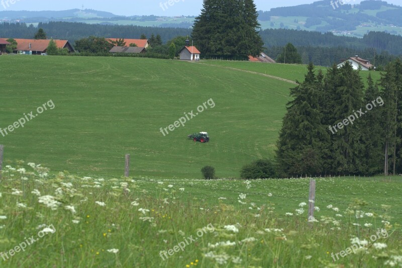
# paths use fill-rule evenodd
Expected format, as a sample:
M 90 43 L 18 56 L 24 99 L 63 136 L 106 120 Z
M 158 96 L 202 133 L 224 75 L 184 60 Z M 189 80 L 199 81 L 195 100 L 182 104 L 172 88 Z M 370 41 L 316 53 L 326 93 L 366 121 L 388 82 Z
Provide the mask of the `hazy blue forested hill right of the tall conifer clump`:
M 345 5 L 340 5 L 335 0 L 323 0 L 313 4 L 260 11 L 258 19 L 262 22 L 263 29 L 334 32 L 358 37 L 362 37 L 367 31 L 402 33 L 402 7 L 375 0 L 354 4 L 352 0 L 346 1 Z

